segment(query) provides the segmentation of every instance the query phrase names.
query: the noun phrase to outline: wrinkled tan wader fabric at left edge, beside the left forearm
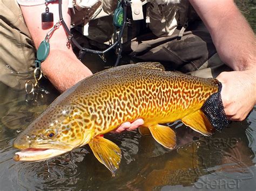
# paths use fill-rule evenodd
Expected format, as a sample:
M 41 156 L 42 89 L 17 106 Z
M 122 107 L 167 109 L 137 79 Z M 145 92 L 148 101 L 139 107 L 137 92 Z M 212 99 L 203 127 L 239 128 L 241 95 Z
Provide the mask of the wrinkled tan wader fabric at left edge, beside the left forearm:
M 0 0 L 0 83 L 24 89 L 33 78 L 35 47 L 15 0 Z

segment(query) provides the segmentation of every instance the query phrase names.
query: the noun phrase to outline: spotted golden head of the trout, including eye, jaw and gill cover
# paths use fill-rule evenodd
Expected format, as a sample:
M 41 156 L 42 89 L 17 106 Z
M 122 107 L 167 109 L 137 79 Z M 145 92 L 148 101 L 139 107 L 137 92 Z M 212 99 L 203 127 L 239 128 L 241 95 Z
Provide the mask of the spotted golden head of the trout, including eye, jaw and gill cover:
M 55 157 L 88 142 L 90 130 L 75 106 L 55 105 L 46 109 L 14 142 L 20 149 L 14 159 L 37 161 Z

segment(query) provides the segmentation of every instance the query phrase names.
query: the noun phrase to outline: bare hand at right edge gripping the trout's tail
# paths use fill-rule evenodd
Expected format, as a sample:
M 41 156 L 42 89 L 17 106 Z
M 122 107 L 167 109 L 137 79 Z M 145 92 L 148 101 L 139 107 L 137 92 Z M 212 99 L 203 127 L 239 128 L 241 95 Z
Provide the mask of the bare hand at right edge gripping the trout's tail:
M 223 72 L 217 79 L 223 85 L 221 98 L 227 118 L 244 120 L 256 104 L 256 68 Z

